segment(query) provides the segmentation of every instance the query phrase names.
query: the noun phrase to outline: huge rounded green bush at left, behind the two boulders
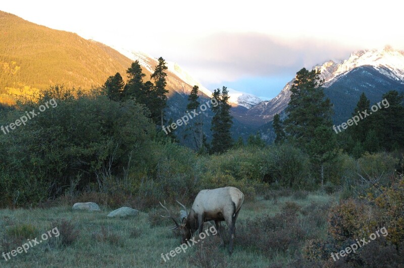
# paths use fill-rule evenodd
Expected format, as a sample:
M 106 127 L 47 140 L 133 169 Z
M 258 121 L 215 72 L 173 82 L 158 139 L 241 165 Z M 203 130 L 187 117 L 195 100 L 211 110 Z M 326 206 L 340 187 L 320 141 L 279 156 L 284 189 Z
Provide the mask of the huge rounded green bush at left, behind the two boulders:
M 54 108 L 0 137 L 5 179 L 0 186 L 9 192 L 2 206 L 28 205 L 28 200 L 35 205 L 68 188 L 85 190 L 90 183 L 104 191 L 108 178 L 123 177 L 128 166 L 142 170 L 149 156 L 140 152 L 149 151 L 155 126 L 133 101 L 118 103 L 56 86 L 40 93 L 37 102 L 19 102 L 6 120 L 13 122 L 51 100 Z

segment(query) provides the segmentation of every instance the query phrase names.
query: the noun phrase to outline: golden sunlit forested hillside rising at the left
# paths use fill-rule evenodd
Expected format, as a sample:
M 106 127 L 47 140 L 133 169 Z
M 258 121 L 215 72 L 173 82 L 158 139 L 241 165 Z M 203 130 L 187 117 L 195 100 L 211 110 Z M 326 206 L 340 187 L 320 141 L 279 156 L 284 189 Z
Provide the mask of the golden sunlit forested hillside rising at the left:
M 90 89 L 103 85 L 117 72 L 126 79 L 126 70 L 133 61 L 102 43 L 2 11 L 0 29 L 0 102 L 3 103 L 12 103 L 11 94 L 30 93 L 55 84 Z M 149 61 L 156 60 L 149 58 Z M 151 70 L 155 67 L 153 63 Z M 145 79 L 149 79 L 150 71 L 142 67 Z M 171 72 L 167 88 L 169 97 L 192 89 Z

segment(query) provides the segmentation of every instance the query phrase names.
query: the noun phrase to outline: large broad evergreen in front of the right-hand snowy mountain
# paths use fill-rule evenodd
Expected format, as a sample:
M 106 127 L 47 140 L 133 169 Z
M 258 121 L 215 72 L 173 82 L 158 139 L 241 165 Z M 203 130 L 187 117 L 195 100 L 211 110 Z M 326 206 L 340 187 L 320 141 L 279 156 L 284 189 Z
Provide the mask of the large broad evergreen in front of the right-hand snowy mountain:
M 306 151 L 319 167 L 324 183 L 324 163 L 336 156 L 336 139 L 332 130 L 332 104 L 325 99 L 320 71 L 305 68 L 296 73 L 284 121 L 286 138 Z

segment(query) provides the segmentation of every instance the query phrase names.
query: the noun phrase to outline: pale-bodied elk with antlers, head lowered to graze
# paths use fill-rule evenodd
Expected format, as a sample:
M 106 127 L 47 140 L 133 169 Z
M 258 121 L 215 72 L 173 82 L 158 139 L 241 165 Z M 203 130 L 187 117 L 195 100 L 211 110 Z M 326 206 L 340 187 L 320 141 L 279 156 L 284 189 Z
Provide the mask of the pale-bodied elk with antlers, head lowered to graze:
M 222 238 L 224 244 L 224 238 L 221 233 L 221 222 L 225 221 L 230 232 L 229 253 L 231 254 L 233 252 L 233 240 L 236 230 L 235 223 L 243 202 L 244 194 L 235 187 L 228 186 L 201 190 L 196 195 L 189 213 L 185 206 L 177 201 L 186 212 L 186 217 L 182 219 L 181 224 L 177 223 L 175 218 L 170 215 L 169 210 L 160 202 L 160 205 L 169 213 L 169 216 L 161 216 L 164 218 L 170 218 L 174 221 L 175 225 L 170 229 L 180 230 L 181 244 L 186 243 L 196 230 L 201 233 L 204 228 L 204 222 L 208 221 L 215 221 L 216 229 L 218 230 L 219 236 Z

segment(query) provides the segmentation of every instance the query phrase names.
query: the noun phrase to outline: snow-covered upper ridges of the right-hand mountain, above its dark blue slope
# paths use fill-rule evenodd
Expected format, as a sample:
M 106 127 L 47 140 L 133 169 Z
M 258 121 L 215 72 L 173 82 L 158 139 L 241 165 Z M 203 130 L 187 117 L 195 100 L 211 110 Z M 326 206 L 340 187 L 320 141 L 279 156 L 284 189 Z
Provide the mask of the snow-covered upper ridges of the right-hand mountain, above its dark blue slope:
M 329 88 L 350 74 L 352 70 L 361 66 L 371 66 L 386 79 L 404 85 L 404 52 L 394 50 L 388 46 L 383 49 L 353 52 L 346 60 L 328 60 L 323 64 L 314 66 L 313 69 L 321 71 L 320 76 L 325 81 L 324 87 Z M 362 71 L 364 72 L 364 70 Z M 275 98 L 263 101 L 249 109 L 246 116 L 256 120 L 260 118 L 263 123 L 272 120 L 276 113 L 280 113 L 287 107 L 293 80 L 287 83 Z M 366 84 L 366 81 L 362 81 L 362 83 Z M 358 90 L 358 88 L 355 90 Z M 363 90 L 366 90 L 366 88 L 364 87 Z

